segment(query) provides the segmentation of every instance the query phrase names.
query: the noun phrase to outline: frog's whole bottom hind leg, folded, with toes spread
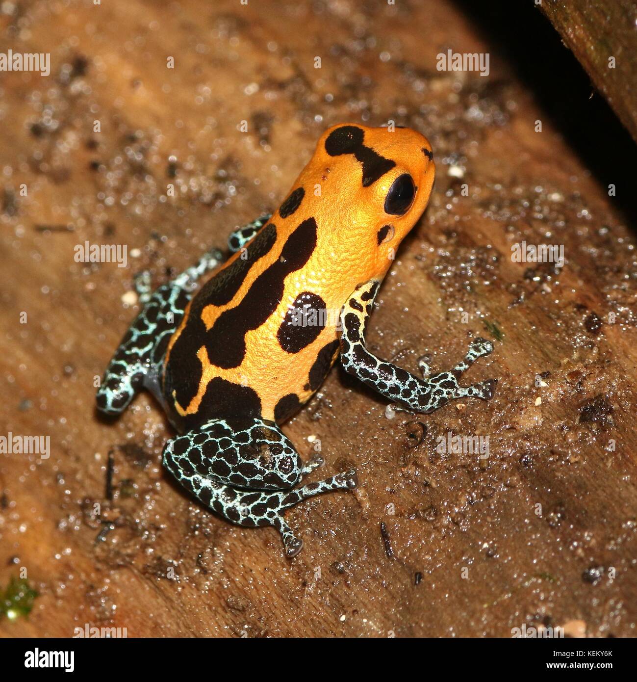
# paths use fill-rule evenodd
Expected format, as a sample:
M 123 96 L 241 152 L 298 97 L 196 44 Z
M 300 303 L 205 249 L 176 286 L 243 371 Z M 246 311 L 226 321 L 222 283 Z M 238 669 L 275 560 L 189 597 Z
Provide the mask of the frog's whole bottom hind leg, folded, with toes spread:
M 298 554 L 302 541 L 285 523 L 285 509 L 356 486 L 356 474 L 349 471 L 294 488 L 320 464 L 315 457 L 303 466 L 276 424 L 256 418 L 215 419 L 164 448 L 164 466 L 182 486 L 233 523 L 277 528 L 288 557 Z

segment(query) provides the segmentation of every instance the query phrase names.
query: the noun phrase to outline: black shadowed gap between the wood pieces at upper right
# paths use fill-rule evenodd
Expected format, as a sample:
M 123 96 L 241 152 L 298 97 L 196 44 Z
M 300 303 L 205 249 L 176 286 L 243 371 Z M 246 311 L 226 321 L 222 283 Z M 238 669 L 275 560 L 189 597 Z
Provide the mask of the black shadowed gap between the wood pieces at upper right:
M 506 61 L 593 177 L 615 185 L 612 201 L 634 230 L 637 145 L 548 18 L 530 0 L 454 1 L 493 45 L 491 67 L 496 55 Z

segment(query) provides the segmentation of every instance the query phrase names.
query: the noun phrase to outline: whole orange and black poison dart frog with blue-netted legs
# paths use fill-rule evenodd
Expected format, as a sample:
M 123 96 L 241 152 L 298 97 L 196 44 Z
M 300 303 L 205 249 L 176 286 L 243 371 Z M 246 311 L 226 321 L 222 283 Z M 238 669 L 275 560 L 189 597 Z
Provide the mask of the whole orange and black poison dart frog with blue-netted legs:
M 142 310 L 104 374 L 99 410 L 118 415 L 149 389 L 179 434 L 164 447 L 166 469 L 235 524 L 277 528 L 288 557 L 302 540 L 283 512 L 356 486 L 355 471 L 299 485 L 323 461 L 304 464 L 280 428 L 339 355 L 349 374 L 403 409 L 493 396 L 493 379 L 458 383 L 493 351 L 482 338 L 448 372 L 430 376 L 419 361 L 422 378 L 365 346 L 375 296 L 434 173 L 431 145 L 414 130 L 336 125 L 279 209 L 230 235 L 225 262 L 213 249 L 154 293 L 148 273 L 136 278 Z M 313 324 L 308 313 L 317 313 Z

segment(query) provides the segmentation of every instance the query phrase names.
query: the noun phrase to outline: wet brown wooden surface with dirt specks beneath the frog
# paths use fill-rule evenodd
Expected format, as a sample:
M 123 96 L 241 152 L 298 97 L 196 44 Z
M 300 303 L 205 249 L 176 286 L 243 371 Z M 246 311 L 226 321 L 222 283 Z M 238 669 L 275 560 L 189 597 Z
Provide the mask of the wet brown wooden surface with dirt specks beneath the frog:
M 50 436 L 48 459 L 0 455 L 0 585 L 25 569 L 40 592 L 29 619 L 0 620 L 3 636 L 86 623 L 128 636 L 634 634 L 632 190 L 589 93 L 568 106 L 595 144 L 574 149 L 544 87 L 465 12 L 131 0 L 1 16 L 0 51 L 50 51 L 52 64 L 48 78 L 0 80 L 1 434 Z M 489 76 L 437 71 L 448 48 L 488 51 Z M 555 64 L 541 66 L 550 80 Z M 134 272 L 163 282 L 275 207 L 326 126 L 390 119 L 429 137 L 438 175 L 369 344 L 410 370 L 429 351 L 441 369 L 490 336 L 495 353 L 465 381 L 495 377 L 497 394 L 389 419 L 332 370 L 285 432 L 304 457 L 320 440 L 317 477 L 355 466 L 360 487 L 288 512 L 305 540 L 290 561 L 274 529 L 231 526 L 162 471 L 170 429 L 149 396 L 99 419 L 94 377 L 135 314 Z M 127 267 L 76 263 L 87 240 L 127 245 Z M 563 246 L 564 267 L 513 262 L 523 240 Z M 488 458 L 437 451 L 448 433 L 488 437 Z

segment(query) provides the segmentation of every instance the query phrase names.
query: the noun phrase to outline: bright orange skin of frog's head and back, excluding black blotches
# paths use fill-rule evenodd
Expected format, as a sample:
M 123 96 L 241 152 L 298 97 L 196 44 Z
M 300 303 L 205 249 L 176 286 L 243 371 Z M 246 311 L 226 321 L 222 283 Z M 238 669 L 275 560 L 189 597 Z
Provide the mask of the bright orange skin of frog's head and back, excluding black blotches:
M 313 157 L 294 182 L 292 190 L 299 187 L 305 189 L 305 198 L 298 210 L 285 219 L 281 218 L 278 210 L 273 214 L 271 221 L 277 226 L 277 241 L 273 248 L 253 263 L 229 303 L 203 308 L 201 318 L 206 329 L 213 326 L 223 311 L 237 306 L 255 278 L 277 261 L 292 231 L 303 220 L 314 218 L 317 224 L 317 246 L 309 261 L 285 278 L 283 297 L 275 312 L 258 329 L 247 332 L 246 353 L 240 366 L 232 369 L 214 366 L 208 360 L 206 347 L 199 349 L 197 357 L 202 368 L 199 390 L 187 405 L 178 404 L 172 396 L 178 415 L 196 414 L 208 382 L 217 376 L 254 389 L 262 402 L 262 418 L 266 420 L 275 421 L 275 406 L 282 396 L 296 394 L 301 404 L 307 402 L 314 392 L 309 388 L 308 372 L 320 349 L 338 338 L 339 311 L 358 284 L 384 278 L 399 244 L 422 215 L 435 175 L 429 141 L 409 128 L 390 131 L 388 128 L 356 125 L 356 128 L 364 130 L 366 147 L 371 147 L 396 164 L 370 186 L 363 187 L 362 164 L 354 154 L 330 156 L 325 149 L 326 138 L 341 125 L 324 132 Z M 424 150 L 429 154 L 424 153 Z M 403 173 L 409 173 L 414 179 L 417 188 L 414 202 L 403 216 L 388 215 L 384 211 L 386 195 L 394 180 Z M 377 234 L 386 225 L 393 226 L 394 233 L 379 244 Z M 240 253 L 237 252 L 218 267 L 212 277 L 230 266 L 240 257 Z M 308 290 L 325 301 L 329 311 L 327 324 L 311 344 L 290 355 L 281 348 L 277 330 L 296 297 Z M 168 364 L 170 351 L 187 323 L 190 308 L 191 303 L 170 340 L 164 366 Z M 338 353 L 337 350 L 332 363 Z

